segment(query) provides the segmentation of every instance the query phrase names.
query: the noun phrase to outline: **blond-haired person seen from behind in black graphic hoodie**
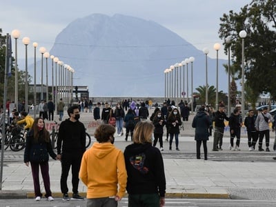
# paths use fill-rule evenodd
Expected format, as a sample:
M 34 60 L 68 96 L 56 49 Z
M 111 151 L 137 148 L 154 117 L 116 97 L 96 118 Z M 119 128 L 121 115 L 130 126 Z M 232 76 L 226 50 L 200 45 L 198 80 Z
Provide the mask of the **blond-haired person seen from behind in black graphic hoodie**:
M 166 177 L 159 149 L 152 146 L 154 126 L 140 121 L 135 126 L 133 144 L 126 146 L 124 157 L 128 181 L 128 206 L 159 207 L 165 205 Z

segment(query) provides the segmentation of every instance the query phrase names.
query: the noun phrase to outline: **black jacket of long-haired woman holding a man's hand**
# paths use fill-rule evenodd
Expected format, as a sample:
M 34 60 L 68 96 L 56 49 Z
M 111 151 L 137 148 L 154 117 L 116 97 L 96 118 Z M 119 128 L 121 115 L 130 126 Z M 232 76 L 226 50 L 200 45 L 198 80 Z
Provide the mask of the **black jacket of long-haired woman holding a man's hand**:
M 52 159 L 56 159 L 57 155 L 52 150 L 50 139 L 46 142 L 41 133 L 39 133 L 39 139 L 34 140 L 34 133 L 30 130 L 27 134 L 26 148 L 24 151 L 24 162 L 36 162 L 41 163 L 49 161 L 49 155 Z M 50 135 L 49 135 L 50 136 Z

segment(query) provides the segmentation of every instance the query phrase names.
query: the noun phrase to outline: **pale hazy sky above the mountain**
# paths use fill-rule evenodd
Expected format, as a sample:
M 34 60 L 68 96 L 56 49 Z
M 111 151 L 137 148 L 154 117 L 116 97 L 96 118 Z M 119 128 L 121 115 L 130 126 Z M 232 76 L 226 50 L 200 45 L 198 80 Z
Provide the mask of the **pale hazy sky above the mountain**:
M 229 10 L 239 12 L 251 0 L 6 0 L 1 1 L 0 28 L 3 34 L 21 32 L 18 57 L 24 58 L 23 37 L 37 41 L 49 51 L 57 34 L 75 19 L 101 13 L 125 14 L 155 21 L 202 50 L 207 47 L 215 57 L 214 43 L 218 37 L 219 17 Z M 14 48 L 14 41 L 13 48 Z M 29 52 L 32 56 L 33 52 Z M 226 58 L 221 50 L 220 58 Z

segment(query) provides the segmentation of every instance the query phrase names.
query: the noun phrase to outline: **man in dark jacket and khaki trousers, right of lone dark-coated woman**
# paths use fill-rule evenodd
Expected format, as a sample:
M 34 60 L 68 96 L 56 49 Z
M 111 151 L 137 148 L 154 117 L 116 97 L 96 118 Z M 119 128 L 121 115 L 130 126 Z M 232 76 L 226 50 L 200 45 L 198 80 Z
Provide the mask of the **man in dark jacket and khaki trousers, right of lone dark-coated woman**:
M 214 132 L 214 142 L 213 142 L 213 151 L 222 150 L 222 139 L 224 138 L 224 119 L 229 121 L 229 118 L 224 112 L 224 105 L 219 104 L 219 110 L 215 112 L 215 132 Z M 217 146 L 219 145 L 219 146 Z

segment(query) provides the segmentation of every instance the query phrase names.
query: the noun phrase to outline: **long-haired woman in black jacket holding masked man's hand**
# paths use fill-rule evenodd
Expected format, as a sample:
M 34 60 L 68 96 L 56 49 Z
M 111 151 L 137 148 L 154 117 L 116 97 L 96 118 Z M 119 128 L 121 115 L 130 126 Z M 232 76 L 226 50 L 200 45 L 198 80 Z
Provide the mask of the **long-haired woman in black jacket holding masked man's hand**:
M 34 182 L 35 200 L 40 201 L 42 197 L 39 184 L 39 166 L 43 178 L 45 197 L 48 201 L 53 201 L 52 192 L 50 190 L 49 176 L 49 155 L 52 159 L 57 159 L 57 155 L 52 150 L 50 134 L 45 128 L 44 121 L 41 117 L 34 119 L 34 124 L 29 130 L 26 139 L 26 148 L 24 151 L 24 163 L 32 168 L 32 179 Z

